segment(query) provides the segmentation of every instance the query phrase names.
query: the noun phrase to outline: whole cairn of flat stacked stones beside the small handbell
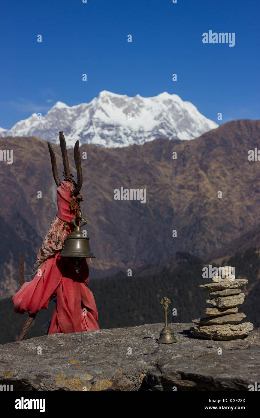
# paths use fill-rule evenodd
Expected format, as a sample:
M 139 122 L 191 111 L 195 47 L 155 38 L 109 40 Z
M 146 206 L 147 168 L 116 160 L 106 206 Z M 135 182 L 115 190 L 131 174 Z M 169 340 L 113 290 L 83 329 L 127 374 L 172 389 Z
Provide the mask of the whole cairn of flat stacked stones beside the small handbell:
M 232 267 L 218 268 L 212 283 L 199 286 L 203 291 L 210 292 L 206 303 L 213 307 L 206 308 L 205 318 L 193 319 L 192 322 L 197 326 L 191 327 L 191 333 L 212 340 L 241 339 L 247 336 L 254 326 L 250 322 L 239 324 L 246 317 L 238 312 L 238 305 L 244 302 L 245 294 L 237 289 L 247 283 L 246 279 L 235 280 Z

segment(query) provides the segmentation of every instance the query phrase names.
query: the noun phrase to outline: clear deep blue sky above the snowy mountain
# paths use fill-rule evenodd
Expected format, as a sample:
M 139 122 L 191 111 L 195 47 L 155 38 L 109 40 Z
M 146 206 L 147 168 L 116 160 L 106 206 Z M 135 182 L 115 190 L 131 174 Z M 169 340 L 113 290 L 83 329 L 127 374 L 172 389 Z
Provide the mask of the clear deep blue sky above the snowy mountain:
M 90 102 L 102 90 L 178 94 L 217 123 L 259 119 L 257 1 L 2 0 L 0 7 L 0 127 L 44 115 L 57 101 Z M 210 30 L 235 32 L 235 46 L 203 44 Z

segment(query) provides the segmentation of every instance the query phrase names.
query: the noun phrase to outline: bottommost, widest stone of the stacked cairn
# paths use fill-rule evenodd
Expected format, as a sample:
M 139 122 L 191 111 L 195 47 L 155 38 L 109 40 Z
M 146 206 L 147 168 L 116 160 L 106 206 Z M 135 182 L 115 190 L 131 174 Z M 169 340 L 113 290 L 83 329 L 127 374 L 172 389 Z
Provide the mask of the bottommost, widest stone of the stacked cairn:
M 232 340 L 240 339 L 249 334 L 254 328 L 251 322 L 244 322 L 238 325 L 209 325 L 209 326 L 194 326 L 190 329 L 191 333 L 200 338 L 213 340 Z

